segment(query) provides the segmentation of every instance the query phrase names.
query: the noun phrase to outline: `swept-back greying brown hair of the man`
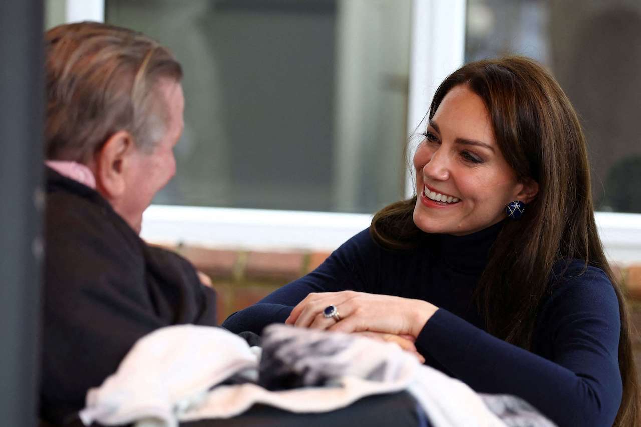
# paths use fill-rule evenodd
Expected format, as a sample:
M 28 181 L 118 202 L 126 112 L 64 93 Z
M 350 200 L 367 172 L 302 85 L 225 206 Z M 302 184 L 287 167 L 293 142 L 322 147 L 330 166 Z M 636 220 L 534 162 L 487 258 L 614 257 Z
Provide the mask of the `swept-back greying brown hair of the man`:
M 156 84 L 183 76 L 169 49 L 101 22 L 56 26 L 45 43 L 45 158 L 87 163 L 120 130 L 138 148 L 153 150 L 168 113 Z

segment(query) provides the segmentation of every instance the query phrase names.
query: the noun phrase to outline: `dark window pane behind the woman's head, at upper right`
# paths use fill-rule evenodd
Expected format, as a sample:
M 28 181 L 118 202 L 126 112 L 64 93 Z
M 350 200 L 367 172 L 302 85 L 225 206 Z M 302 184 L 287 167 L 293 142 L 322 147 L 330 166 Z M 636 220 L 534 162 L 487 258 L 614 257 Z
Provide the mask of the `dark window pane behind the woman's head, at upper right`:
M 465 41 L 466 61 L 518 53 L 547 65 L 585 130 L 597 209 L 641 213 L 640 2 L 469 0 Z

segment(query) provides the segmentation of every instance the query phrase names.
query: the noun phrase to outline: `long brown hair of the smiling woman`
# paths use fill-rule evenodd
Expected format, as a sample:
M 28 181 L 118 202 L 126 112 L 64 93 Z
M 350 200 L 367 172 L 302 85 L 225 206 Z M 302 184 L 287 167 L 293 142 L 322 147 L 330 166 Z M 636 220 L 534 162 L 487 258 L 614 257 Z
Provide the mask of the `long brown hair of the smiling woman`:
M 574 108 L 538 63 L 507 56 L 471 62 L 450 74 L 434 95 L 429 119 L 457 85 L 467 85 L 485 102 L 497 144 L 517 179 L 539 185 L 526 215 L 508 222 L 499 233 L 479 280 L 476 302 L 488 332 L 530 349 L 553 265 L 575 258 L 585 260 L 586 268 L 602 269 L 620 306 L 623 399 L 615 425 L 641 425 L 628 308 L 597 233 L 587 144 Z M 412 221 L 415 201 L 416 197 L 399 201 L 377 212 L 370 227 L 372 239 L 390 249 L 416 246 L 422 231 Z

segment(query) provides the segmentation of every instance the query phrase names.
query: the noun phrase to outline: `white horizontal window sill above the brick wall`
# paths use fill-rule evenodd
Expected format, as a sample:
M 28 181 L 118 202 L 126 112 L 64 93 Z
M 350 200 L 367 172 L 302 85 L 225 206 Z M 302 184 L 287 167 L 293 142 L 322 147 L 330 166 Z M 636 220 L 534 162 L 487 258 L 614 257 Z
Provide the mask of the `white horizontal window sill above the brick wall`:
M 369 226 L 371 215 L 152 205 L 142 237 L 161 244 L 260 251 L 333 251 Z M 641 262 L 641 214 L 597 212 L 608 258 Z

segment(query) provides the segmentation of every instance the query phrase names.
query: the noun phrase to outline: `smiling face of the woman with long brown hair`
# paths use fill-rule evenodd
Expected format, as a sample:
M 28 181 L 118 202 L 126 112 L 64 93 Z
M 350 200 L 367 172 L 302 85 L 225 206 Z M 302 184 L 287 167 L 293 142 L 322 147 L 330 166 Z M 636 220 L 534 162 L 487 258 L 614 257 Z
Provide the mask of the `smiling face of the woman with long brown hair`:
M 530 201 L 503 158 L 483 100 L 466 85 L 438 106 L 414 155 L 417 200 L 413 220 L 426 233 L 466 235 L 506 217 L 511 201 Z

